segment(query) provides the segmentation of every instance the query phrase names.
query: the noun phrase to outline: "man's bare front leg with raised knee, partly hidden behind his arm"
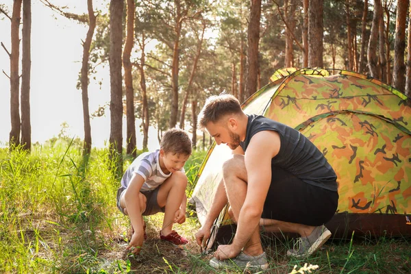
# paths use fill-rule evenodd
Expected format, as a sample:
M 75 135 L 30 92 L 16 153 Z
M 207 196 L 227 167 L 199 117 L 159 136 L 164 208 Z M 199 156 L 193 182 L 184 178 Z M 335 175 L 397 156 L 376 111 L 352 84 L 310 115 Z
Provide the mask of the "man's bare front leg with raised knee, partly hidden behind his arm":
M 223 178 L 228 201 L 237 222 L 247 195 L 247 170 L 243 155 L 233 155 L 232 159 L 224 163 Z M 251 234 L 251 238 L 242 251 L 249 256 L 258 256 L 263 253 L 258 227 Z

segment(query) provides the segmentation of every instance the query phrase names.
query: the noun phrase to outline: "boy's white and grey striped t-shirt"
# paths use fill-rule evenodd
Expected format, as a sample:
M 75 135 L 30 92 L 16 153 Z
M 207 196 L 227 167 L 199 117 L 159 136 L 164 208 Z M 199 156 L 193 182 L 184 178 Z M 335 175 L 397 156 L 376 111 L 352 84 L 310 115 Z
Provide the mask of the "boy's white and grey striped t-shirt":
M 153 152 L 145 152 L 136 158 L 125 171 L 121 179 L 121 186 L 127 188 L 134 173 L 141 175 L 145 180 L 140 189 L 141 192 L 147 192 L 158 188 L 170 174 L 165 174 L 160 167 L 160 149 Z M 184 168 L 182 169 L 184 172 Z

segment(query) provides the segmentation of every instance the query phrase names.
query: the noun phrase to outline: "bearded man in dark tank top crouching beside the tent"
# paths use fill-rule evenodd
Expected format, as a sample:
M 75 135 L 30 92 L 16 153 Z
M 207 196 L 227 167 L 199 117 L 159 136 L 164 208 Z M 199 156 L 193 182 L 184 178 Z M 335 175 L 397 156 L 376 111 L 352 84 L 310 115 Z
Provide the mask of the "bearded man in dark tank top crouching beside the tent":
M 338 206 L 337 177 L 310 140 L 264 116 L 248 116 L 232 95 L 210 97 L 199 115 L 199 127 L 234 154 L 223 164 L 223 181 L 196 234 L 203 245 L 229 201 L 236 235 L 231 245 L 217 248 L 212 266 L 268 268 L 259 225 L 270 232 L 301 235 L 299 246 L 288 250 L 288 256 L 308 256 L 327 241 L 331 232 L 323 224 Z

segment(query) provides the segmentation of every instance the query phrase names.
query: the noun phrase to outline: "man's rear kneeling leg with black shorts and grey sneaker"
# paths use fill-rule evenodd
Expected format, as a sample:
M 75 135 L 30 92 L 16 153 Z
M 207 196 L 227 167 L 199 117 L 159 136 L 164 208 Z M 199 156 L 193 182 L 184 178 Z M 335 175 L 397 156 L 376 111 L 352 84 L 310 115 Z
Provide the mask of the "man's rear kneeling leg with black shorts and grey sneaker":
M 260 225 L 269 232 L 294 232 L 301 236 L 288 256 L 309 256 L 331 236 L 323 225 L 334 216 L 338 193 L 312 186 L 277 166 L 264 203 Z M 275 177 L 274 177 L 275 176 Z

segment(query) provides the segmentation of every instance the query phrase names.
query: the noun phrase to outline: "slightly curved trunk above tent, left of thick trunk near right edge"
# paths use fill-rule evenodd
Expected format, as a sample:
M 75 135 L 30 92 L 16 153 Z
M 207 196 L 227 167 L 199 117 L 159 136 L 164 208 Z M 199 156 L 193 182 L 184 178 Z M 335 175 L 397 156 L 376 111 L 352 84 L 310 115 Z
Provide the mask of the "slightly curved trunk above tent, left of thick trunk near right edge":
M 376 78 L 377 70 L 377 45 L 378 45 L 378 29 L 379 29 L 379 10 L 381 9 L 381 0 L 374 1 L 373 24 L 371 25 L 371 34 L 369 39 L 369 47 L 367 50 L 368 66 L 371 77 Z

